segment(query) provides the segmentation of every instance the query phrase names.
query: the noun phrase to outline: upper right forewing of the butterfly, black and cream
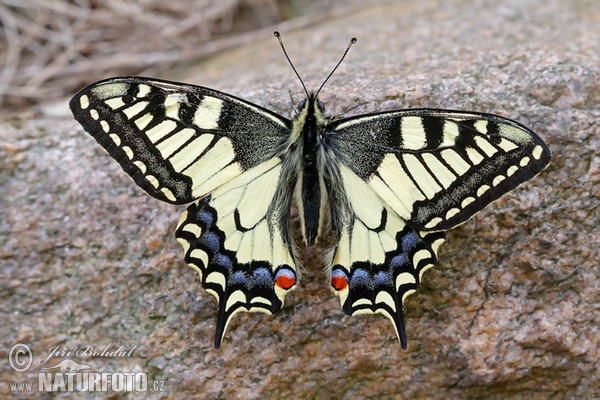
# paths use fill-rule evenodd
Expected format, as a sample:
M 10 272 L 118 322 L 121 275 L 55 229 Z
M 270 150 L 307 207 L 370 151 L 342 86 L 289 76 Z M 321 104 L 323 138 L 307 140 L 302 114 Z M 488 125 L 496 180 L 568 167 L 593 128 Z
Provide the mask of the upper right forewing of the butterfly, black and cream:
M 450 229 L 542 171 L 546 144 L 491 114 L 415 109 L 328 127 L 343 163 L 416 230 Z

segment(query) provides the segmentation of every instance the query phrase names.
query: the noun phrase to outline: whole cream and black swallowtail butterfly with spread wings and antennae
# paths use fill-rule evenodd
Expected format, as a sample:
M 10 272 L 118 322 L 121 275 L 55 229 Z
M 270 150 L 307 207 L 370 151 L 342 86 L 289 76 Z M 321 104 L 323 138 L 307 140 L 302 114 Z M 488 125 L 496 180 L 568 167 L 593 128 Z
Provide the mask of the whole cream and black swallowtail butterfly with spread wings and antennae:
M 70 101 L 140 188 L 191 203 L 176 237 L 217 299 L 216 348 L 233 315 L 274 313 L 297 286 L 296 205 L 306 245 L 333 235 L 326 264 L 343 311 L 383 314 L 406 349 L 403 304 L 445 232 L 550 162 L 538 135 L 492 114 L 327 118 L 318 94 L 355 42 L 316 93 L 300 79 L 306 99 L 291 120 L 227 93 L 143 77 L 102 80 Z

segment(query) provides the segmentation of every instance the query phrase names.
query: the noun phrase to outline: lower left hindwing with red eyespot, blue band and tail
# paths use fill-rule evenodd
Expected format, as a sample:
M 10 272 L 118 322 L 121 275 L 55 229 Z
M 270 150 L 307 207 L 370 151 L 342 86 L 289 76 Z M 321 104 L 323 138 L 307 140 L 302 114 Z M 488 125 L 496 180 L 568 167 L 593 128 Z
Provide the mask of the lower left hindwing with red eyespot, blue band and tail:
M 218 302 L 217 348 L 234 314 L 274 313 L 295 286 L 287 181 L 281 161 L 273 158 L 192 204 L 181 217 L 175 235 L 185 260 Z

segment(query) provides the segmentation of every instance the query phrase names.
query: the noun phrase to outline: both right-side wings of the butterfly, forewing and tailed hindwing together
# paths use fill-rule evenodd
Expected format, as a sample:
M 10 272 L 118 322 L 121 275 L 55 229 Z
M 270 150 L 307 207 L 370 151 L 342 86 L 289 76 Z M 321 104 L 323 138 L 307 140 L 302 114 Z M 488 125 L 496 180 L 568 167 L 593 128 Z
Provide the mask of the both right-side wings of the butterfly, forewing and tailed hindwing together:
M 447 110 L 359 116 L 327 131 L 346 198 L 332 206 L 344 221 L 332 286 L 347 314 L 390 318 L 406 347 L 402 303 L 436 262 L 443 231 L 538 174 L 550 151 L 517 122 Z

